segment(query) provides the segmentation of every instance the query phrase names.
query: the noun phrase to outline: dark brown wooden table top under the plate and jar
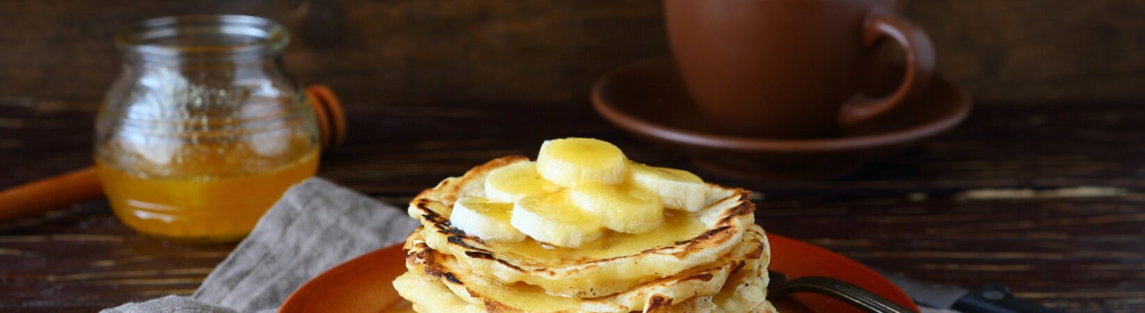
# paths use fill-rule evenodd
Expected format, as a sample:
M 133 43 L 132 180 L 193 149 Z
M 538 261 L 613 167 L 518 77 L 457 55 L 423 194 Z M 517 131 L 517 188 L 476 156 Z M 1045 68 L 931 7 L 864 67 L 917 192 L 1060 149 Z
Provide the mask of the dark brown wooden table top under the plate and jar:
M 757 190 L 767 230 L 871 266 L 973 288 L 1001 282 L 1071 312 L 1145 312 L 1145 107 L 979 105 L 957 128 L 853 175 L 750 182 L 635 141 L 587 103 L 348 102 L 348 142 L 324 156 L 319 175 L 398 206 L 489 158 L 594 136 L 637 161 Z M 89 164 L 96 108 L 0 97 L 0 187 Z M 92 312 L 185 295 L 234 247 L 141 236 L 103 199 L 0 224 L 0 311 Z

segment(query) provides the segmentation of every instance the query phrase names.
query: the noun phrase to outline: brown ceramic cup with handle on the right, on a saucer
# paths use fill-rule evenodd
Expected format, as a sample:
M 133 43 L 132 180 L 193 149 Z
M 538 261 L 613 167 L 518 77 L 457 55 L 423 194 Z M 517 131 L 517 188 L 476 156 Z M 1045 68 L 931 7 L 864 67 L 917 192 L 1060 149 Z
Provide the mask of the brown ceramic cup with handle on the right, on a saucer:
M 693 101 L 720 131 L 827 138 L 921 94 L 934 71 L 930 38 L 894 0 L 664 0 L 672 54 Z M 897 41 L 905 78 L 890 95 L 859 94 Z

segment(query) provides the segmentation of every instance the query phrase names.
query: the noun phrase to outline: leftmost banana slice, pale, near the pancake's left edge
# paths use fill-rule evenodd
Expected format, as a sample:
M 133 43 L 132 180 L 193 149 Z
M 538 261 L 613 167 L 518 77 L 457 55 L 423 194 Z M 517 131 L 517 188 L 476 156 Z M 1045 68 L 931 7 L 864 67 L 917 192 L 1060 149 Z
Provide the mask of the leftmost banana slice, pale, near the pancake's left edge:
M 524 234 L 512 226 L 513 204 L 485 198 L 460 198 L 453 203 L 449 222 L 466 234 L 492 242 L 519 242 Z

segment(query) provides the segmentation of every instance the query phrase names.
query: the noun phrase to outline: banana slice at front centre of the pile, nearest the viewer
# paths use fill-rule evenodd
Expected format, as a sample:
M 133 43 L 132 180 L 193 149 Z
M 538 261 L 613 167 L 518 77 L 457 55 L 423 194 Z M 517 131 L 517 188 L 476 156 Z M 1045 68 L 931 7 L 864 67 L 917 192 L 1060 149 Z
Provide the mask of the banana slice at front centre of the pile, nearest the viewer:
M 513 227 L 536 241 L 577 248 L 603 235 L 601 222 L 574 206 L 568 191 L 527 196 L 513 204 Z

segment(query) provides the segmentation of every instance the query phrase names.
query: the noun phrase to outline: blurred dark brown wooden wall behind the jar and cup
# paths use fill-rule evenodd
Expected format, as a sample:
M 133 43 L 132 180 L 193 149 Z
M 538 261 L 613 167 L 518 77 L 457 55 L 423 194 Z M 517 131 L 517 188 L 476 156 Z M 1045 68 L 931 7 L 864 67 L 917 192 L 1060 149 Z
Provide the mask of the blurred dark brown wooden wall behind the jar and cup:
M 978 105 L 1145 100 L 1143 1 L 927 0 L 905 1 L 902 9 L 933 38 L 940 71 Z M 556 105 L 594 116 L 587 96 L 595 78 L 669 54 L 661 1 L 654 0 L 6 0 L 0 105 L 53 117 L 94 115 L 120 70 L 117 32 L 144 18 L 222 13 L 286 24 L 291 72 L 303 84 L 332 86 L 352 124 L 353 112 L 381 108 L 417 115 L 427 107 Z M 13 148 L 61 152 L 9 167 L 8 181 L 89 158 L 76 147 L 88 144 L 90 125 L 53 123 L 58 118 L 0 118 L 0 161 L 18 159 L 5 157 Z M 41 130 L 53 140 L 2 135 L 14 127 Z

